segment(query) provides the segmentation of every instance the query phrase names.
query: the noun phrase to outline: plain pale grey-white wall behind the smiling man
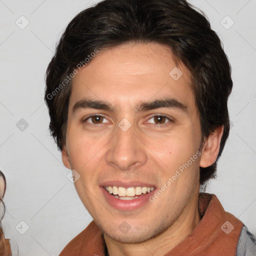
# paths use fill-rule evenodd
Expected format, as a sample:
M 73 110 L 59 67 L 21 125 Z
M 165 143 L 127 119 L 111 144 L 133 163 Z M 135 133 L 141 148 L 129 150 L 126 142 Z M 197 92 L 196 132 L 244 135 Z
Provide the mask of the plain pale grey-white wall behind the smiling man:
M 6 176 L 5 237 L 19 255 L 58 255 L 91 221 L 53 139 L 44 104 L 44 73 L 71 18 L 95 1 L 0 0 L 0 169 Z M 208 16 L 232 66 L 229 139 L 218 162 L 214 193 L 226 211 L 256 233 L 256 20 L 255 0 L 190 1 Z M 29 24 L 20 29 L 23 15 Z M 229 16 L 234 24 L 220 23 Z M 230 19 L 223 20 L 230 25 Z M 223 22 L 222 21 L 222 22 Z M 24 24 L 24 23 L 23 23 Z M 254 98 L 254 99 L 253 99 Z M 28 127 L 16 123 L 24 118 Z M 29 229 L 20 234 L 16 226 Z

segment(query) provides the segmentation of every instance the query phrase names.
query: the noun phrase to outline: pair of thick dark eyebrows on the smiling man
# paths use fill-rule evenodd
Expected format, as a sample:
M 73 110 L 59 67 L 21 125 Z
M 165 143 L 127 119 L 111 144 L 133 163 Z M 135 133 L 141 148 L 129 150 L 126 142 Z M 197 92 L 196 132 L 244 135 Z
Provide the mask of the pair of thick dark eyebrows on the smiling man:
M 134 110 L 135 112 L 143 112 L 147 110 L 157 109 L 160 107 L 177 108 L 184 112 L 187 112 L 187 106 L 179 102 L 175 98 L 161 98 L 161 99 L 154 99 L 153 101 L 142 101 L 135 106 Z M 113 113 L 116 112 L 116 109 L 106 101 L 84 98 L 77 101 L 74 104 L 72 108 L 72 113 L 80 109 L 86 109 L 86 108 L 107 110 Z

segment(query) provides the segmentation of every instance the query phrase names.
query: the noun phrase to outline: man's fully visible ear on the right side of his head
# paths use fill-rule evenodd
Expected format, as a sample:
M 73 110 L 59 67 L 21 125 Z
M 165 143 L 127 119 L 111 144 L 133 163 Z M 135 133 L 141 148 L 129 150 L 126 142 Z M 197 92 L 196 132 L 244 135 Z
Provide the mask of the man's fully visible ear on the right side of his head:
M 224 126 L 217 127 L 204 141 L 200 158 L 200 167 L 208 167 L 215 162 L 223 134 Z

